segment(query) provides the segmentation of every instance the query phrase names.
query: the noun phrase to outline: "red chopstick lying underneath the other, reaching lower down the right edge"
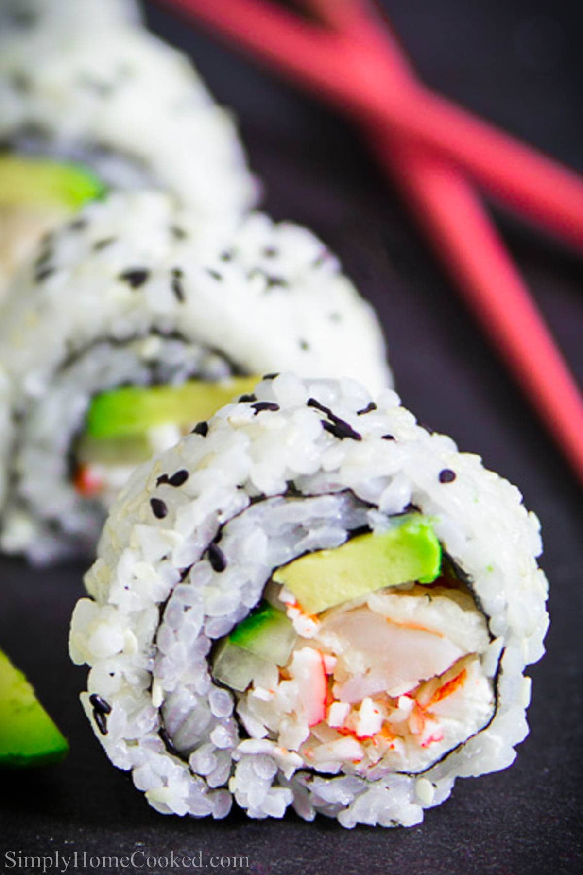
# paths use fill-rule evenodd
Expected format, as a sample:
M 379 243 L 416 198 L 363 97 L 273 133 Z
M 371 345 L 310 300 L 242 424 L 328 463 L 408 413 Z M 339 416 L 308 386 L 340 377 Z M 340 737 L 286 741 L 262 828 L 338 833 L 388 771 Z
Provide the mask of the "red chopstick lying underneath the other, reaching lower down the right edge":
M 373 24 L 359 0 L 305 0 L 330 26 L 350 32 L 364 50 L 378 46 L 393 84 L 406 87 L 413 68 L 391 31 Z M 369 139 L 436 254 L 485 325 L 531 402 L 583 480 L 583 402 L 579 389 L 532 303 L 496 228 L 468 182 L 441 155 L 369 126 Z M 534 353 L 534 354 L 533 354 Z

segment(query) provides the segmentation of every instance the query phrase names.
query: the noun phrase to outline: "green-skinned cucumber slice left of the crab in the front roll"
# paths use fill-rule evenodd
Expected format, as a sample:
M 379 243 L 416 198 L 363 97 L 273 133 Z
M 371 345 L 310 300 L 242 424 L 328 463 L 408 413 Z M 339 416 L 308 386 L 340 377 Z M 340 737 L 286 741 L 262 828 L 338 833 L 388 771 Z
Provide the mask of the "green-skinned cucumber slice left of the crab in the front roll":
M 261 602 L 229 635 L 232 644 L 276 665 L 288 662 L 296 639 L 291 620 L 266 601 Z

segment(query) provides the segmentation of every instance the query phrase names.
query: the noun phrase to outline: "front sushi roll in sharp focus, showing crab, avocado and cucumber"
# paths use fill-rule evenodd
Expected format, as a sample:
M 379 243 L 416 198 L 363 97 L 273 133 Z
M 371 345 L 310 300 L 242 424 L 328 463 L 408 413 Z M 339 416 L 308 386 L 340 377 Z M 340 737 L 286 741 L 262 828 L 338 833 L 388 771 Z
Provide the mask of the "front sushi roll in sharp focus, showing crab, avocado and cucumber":
M 71 624 L 87 718 L 164 814 L 420 823 L 528 733 L 538 529 L 392 390 L 266 378 L 116 500 Z

